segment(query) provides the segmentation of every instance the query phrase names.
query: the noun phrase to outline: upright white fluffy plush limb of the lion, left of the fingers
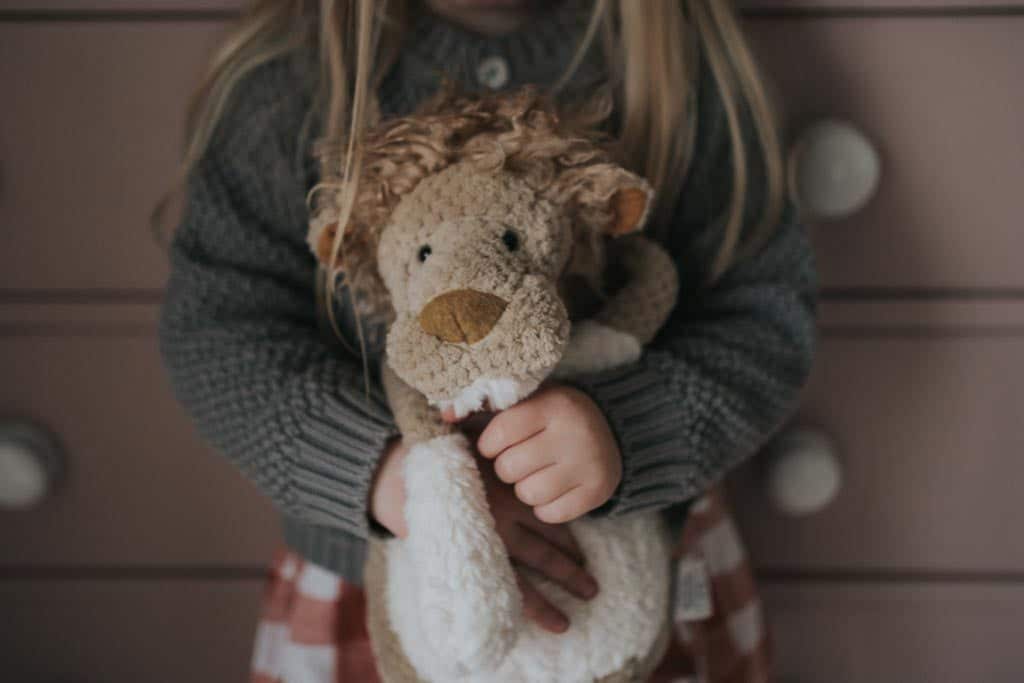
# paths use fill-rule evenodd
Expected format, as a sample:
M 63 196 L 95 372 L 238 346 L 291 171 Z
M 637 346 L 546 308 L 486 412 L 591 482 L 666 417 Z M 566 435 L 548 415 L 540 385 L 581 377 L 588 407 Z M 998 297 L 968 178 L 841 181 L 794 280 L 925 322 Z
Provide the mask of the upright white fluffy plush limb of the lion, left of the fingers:
M 428 680 L 493 670 L 516 641 L 522 603 L 469 443 L 418 443 L 404 467 L 409 537 L 387 551 L 392 628 Z

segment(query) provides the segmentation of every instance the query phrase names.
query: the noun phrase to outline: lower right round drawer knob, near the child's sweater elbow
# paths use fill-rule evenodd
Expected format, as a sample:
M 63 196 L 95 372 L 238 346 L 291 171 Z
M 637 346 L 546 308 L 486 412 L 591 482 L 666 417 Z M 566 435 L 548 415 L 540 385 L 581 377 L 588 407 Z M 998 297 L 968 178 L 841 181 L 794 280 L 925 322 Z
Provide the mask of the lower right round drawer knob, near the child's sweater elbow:
M 769 446 L 768 497 L 790 515 L 808 515 L 831 503 L 843 481 L 839 454 L 823 432 L 797 427 Z

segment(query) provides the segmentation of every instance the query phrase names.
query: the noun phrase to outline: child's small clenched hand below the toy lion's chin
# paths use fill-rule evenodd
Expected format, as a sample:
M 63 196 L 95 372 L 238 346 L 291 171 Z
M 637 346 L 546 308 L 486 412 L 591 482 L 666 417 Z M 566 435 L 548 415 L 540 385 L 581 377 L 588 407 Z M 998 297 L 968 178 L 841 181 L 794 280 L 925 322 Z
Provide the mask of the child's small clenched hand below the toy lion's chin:
M 499 413 L 477 441 L 541 521 L 560 524 L 605 503 L 623 478 L 622 455 L 600 409 L 552 385 Z

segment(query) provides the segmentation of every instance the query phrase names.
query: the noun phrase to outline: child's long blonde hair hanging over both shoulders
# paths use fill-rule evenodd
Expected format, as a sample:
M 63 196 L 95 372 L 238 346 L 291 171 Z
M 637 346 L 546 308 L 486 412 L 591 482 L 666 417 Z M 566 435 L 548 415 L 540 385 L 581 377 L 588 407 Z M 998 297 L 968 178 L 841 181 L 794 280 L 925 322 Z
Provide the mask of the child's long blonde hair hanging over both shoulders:
M 412 0 L 256 0 L 214 55 L 189 104 L 186 174 L 205 153 L 238 83 L 252 70 L 303 44 L 318 43 L 324 131 L 335 138 L 322 150 L 326 182 L 340 188 L 339 224 L 345 225 L 355 198 L 361 152 L 357 131 L 379 117 L 380 80 L 397 57 Z M 309 20 L 316 16 L 318 20 Z M 784 204 L 784 173 L 775 115 L 751 50 L 728 0 L 594 0 L 575 58 L 558 79 L 563 86 L 595 40 L 601 40 L 620 112 L 622 162 L 644 175 L 662 202 L 655 226 L 665 229 L 673 199 L 686 176 L 696 135 L 696 74 L 703 52 L 721 93 L 732 148 L 732 188 L 719 217 L 721 241 L 710 264 L 712 279 L 767 237 Z M 754 123 L 765 168 L 765 203 L 758 227 L 743 231 L 750 186 L 750 150 L 744 144 L 744 110 Z M 297 131 L 298 134 L 298 131 Z M 656 229 L 656 228 L 655 228 Z M 342 230 L 334 244 L 337 257 Z

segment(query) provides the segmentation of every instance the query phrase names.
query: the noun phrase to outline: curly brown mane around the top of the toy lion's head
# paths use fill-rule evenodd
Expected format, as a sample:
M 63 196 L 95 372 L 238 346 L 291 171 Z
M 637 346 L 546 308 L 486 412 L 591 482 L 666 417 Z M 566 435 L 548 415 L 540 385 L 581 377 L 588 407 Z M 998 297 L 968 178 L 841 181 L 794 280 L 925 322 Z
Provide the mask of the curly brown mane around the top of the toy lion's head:
M 539 197 L 565 206 L 574 239 L 600 240 L 611 216 L 608 199 L 623 169 L 603 132 L 609 108 L 597 99 L 559 112 L 536 88 L 468 96 L 444 86 L 416 113 L 367 130 L 359 146 L 358 184 L 347 227 L 337 244 L 342 179 L 335 173 L 311 193 L 309 242 L 332 280 L 349 287 L 362 313 L 390 308 L 377 271 L 377 245 L 391 212 L 424 178 L 468 162 L 481 173 L 514 173 Z M 345 145 L 324 145 L 328 168 Z

